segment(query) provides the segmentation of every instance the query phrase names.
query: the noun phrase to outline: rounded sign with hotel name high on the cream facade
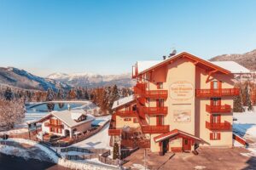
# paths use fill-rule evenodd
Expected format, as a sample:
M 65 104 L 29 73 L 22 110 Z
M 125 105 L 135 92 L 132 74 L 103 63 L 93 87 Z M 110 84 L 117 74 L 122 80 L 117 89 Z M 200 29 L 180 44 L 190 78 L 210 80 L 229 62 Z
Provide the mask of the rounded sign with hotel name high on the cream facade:
M 193 84 L 186 81 L 173 82 L 170 86 L 172 99 L 186 100 L 194 96 Z

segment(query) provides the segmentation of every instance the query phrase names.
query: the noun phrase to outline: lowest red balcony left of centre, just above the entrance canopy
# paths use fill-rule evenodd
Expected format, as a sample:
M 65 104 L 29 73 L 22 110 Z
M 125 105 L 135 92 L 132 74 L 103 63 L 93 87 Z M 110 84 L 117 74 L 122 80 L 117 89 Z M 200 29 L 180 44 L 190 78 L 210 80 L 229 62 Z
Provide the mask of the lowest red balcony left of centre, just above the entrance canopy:
M 142 126 L 143 133 L 168 133 L 169 125 L 146 125 Z

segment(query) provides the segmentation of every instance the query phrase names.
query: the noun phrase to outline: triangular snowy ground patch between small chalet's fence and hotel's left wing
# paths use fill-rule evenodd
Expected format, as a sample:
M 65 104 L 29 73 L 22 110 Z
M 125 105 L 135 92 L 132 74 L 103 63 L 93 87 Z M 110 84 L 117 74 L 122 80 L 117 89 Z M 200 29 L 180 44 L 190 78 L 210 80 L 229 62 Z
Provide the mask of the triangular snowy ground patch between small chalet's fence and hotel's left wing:
M 73 144 L 73 146 L 112 150 L 112 147 L 109 146 L 110 137 L 108 136 L 108 127 L 109 123 L 103 127 L 99 133 L 96 133 L 89 139 L 85 139 L 77 144 Z

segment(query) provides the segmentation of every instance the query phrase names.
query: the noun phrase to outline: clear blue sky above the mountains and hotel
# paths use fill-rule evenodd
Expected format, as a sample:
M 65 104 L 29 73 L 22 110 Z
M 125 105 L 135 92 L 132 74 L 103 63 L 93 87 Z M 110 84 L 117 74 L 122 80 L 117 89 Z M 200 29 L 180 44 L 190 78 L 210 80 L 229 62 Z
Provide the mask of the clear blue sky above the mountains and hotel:
M 256 48 L 256 1 L 0 0 L 0 66 L 119 74 L 173 47 L 203 59 Z

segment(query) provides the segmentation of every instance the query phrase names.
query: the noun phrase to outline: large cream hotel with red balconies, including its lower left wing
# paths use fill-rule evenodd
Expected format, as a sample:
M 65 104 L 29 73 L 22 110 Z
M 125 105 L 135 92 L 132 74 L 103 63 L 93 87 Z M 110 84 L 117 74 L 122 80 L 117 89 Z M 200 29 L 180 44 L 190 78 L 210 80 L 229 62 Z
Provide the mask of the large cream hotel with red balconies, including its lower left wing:
M 150 150 L 160 155 L 198 145 L 232 147 L 233 98 L 240 94 L 234 74 L 247 69 L 225 62 L 186 52 L 138 61 L 132 67 L 134 96 L 114 104 L 109 135 L 116 139 L 123 126 L 138 124 L 150 139 Z M 126 117 L 136 117 L 138 123 L 125 122 Z

